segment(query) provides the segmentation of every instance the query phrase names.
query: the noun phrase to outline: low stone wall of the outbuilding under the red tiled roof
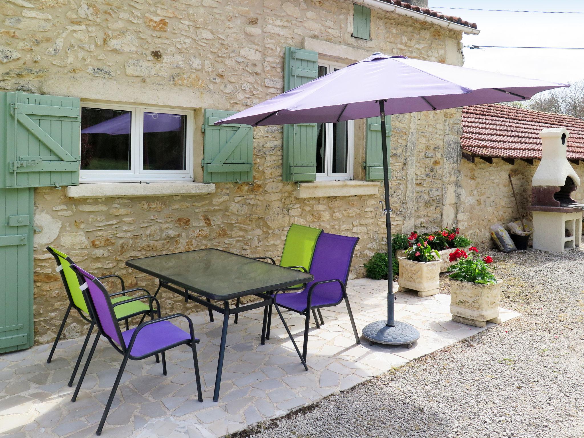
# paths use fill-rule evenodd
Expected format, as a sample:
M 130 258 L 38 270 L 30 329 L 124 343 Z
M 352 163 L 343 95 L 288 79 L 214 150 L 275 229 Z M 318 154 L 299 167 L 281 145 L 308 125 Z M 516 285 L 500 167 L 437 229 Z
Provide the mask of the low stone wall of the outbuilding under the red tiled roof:
M 471 163 L 463 159 L 460 163 L 460 186 L 458 189 L 458 227 L 464 235 L 479 245 L 494 246 L 489 227 L 495 223 L 506 225 L 519 220 L 509 174 L 513 179 L 517 201 L 524 217 L 531 220 L 527 206 L 531 204 L 531 179 L 540 162 L 533 165 L 515 160 L 510 165 L 502 159 L 493 158 L 493 164 L 475 158 Z M 584 182 L 584 165 L 572 165 Z M 572 198 L 584 202 L 584 186 L 572 193 Z

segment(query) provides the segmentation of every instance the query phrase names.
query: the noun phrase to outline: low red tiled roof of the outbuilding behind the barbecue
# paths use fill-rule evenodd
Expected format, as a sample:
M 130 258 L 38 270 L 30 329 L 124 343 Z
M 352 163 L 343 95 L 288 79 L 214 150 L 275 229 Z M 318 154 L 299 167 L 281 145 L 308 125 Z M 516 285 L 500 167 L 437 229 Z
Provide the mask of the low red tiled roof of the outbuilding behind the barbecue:
M 478 157 L 541 159 L 540 131 L 564 127 L 570 133 L 569 160 L 584 161 L 584 120 L 499 103 L 463 108 L 463 152 Z

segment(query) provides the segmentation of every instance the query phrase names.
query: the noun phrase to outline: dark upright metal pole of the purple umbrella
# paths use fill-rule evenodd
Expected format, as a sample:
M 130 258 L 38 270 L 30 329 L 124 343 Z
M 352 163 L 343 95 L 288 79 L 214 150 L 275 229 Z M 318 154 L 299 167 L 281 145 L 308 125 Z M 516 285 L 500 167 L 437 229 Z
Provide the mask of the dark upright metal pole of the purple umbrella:
M 381 114 L 381 155 L 383 156 L 383 188 L 385 197 L 385 230 L 387 231 L 387 326 L 394 326 L 394 258 L 391 248 L 390 172 L 388 169 L 387 135 L 385 134 L 385 101 L 379 101 Z

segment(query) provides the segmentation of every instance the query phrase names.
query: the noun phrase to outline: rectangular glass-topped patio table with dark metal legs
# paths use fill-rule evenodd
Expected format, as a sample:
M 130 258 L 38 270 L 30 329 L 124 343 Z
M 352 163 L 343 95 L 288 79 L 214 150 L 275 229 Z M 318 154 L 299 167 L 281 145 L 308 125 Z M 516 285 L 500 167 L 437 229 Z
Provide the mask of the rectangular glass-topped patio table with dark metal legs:
M 127 260 L 126 266 L 150 274 L 158 279 L 159 285 L 154 296 L 164 287 L 185 297 L 185 301 L 192 300 L 207 307 L 211 322 L 213 322 L 212 311 L 223 314 L 223 331 L 221 332 L 213 401 L 218 401 L 219 399 L 229 316 L 236 315 L 237 318 L 237 314 L 241 312 L 264 307 L 261 340 L 263 345 L 266 338 L 266 307 L 274 304 L 272 294 L 276 291 L 312 281 L 311 274 L 222 251 L 221 249 L 196 249 L 194 251 L 131 259 Z M 262 300 L 240 307 L 230 307 L 228 300 L 237 298 L 239 301 L 246 296 L 256 296 L 262 298 Z M 223 307 L 211 303 L 211 300 L 223 301 Z M 286 332 L 304 368 L 308 370 L 306 362 L 279 308 L 277 306 L 274 307 L 276 307 L 276 311 L 284 323 Z

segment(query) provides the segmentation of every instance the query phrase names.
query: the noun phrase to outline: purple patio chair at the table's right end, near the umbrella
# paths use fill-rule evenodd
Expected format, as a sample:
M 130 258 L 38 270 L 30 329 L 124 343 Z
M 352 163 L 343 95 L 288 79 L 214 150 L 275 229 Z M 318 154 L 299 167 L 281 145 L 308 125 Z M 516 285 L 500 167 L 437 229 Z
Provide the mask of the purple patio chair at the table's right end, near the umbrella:
M 274 305 L 279 314 L 278 307 L 284 307 L 301 315 L 306 315 L 302 352 L 304 360 L 306 360 L 308 349 L 308 328 L 310 326 L 311 311 L 338 305 L 343 299 L 347 305 L 349 319 L 353 326 L 355 342 L 361 343 L 346 291 L 353 252 L 358 241 L 358 237 L 339 236 L 328 232 L 321 233 L 318 237 L 317 246 L 312 257 L 312 265 L 310 266 L 310 273 L 314 276 L 314 280 L 308 283 L 300 292 L 280 295 L 276 293 L 274 295 Z M 264 321 L 266 321 L 265 318 Z M 266 339 L 269 336 L 269 331 L 270 327 L 268 326 Z

